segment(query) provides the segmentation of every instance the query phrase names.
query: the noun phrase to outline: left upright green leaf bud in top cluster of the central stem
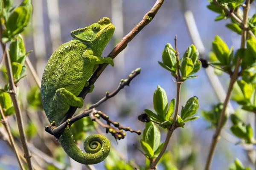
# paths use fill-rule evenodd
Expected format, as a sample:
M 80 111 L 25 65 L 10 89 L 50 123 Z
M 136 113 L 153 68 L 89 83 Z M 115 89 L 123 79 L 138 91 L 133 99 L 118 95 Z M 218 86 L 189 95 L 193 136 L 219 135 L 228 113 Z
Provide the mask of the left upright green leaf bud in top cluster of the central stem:
M 172 68 L 173 71 L 176 70 L 177 57 L 175 50 L 172 48 L 172 45 L 167 43 L 162 54 L 163 64 L 167 65 L 169 68 Z M 173 67 L 175 69 L 173 69 Z

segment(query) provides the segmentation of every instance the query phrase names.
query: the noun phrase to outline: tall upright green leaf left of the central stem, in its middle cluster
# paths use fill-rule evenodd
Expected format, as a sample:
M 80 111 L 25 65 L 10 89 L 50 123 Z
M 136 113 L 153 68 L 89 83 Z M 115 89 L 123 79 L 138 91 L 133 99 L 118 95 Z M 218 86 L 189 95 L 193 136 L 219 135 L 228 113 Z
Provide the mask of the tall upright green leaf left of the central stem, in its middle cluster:
M 153 103 L 154 110 L 157 112 L 158 116 L 164 119 L 168 109 L 168 99 L 166 92 L 160 87 L 160 85 L 158 85 L 157 90 L 154 91 Z

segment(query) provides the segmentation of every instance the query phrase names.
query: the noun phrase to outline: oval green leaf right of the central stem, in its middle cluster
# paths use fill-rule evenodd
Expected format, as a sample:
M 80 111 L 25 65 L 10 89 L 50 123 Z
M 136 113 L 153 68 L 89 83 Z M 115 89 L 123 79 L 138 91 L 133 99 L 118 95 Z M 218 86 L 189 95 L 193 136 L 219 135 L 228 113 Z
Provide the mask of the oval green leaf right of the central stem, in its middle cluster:
M 190 116 L 193 116 L 198 110 L 198 98 L 196 96 L 191 97 L 186 102 L 184 110 L 181 112 L 181 118 L 186 119 Z

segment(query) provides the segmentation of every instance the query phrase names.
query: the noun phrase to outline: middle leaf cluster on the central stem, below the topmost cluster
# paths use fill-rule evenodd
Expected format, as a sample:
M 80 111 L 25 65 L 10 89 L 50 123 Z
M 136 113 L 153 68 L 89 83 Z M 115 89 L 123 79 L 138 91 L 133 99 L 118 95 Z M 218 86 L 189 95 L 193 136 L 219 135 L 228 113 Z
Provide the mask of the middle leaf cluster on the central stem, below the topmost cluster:
M 145 113 L 154 122 L 159 123 L 160 127 L 168 128 L 171 127 L 173 123 L 172 114 L 175 110 L 175 98 L 171 100 L 168 109 L 168 99 L 166 92 L 160 85 L 157 86 L 157 90 L 154 91 L 153 97 L 154 113 L 151 110 L 145 109 Z M 177 115 L 177 126 L 183 127 L 185 122 L 197 119 L 198 116 L 193 116 L 198 110 L 198 98 L 196 96 L 191 97 L 186 102 L 186 105 L 181 109 L 180 115 Z

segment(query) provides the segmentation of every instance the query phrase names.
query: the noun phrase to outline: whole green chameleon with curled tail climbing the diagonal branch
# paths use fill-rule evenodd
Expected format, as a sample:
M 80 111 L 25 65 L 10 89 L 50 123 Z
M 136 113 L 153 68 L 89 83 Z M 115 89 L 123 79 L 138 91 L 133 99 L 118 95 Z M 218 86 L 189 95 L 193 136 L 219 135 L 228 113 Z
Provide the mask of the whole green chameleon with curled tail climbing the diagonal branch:
M 71 31 L 73 40 L 58 47 L 44 69 L 41 99 L 44 111 L 53 125 L 58 125 L 70 106 L 82 108 L 78 97 L 99 64 L 114 66 L 111 57 L 101 57 L 102 51 L 114 33 L 115 27 L 107 17 L 90 26 Z M 90 86 L 92 92 L 94 86 Z M 97 164 L 110 152 L 105 136 L 95 134 L 84 141 L 84 153 L 77 147 L 69 128 L 58 138 L 65 152 L 81 164 Z

